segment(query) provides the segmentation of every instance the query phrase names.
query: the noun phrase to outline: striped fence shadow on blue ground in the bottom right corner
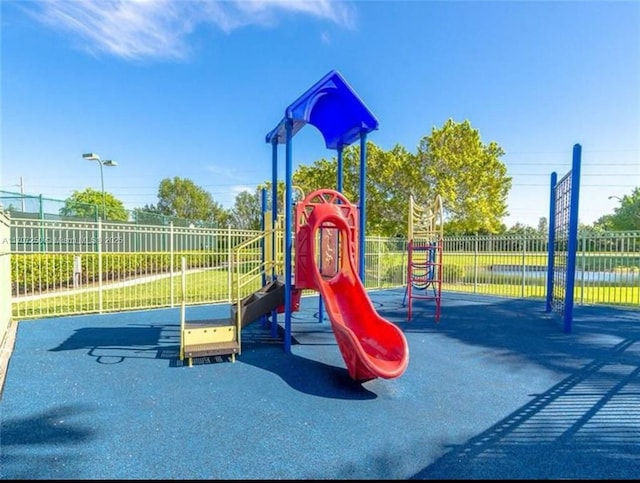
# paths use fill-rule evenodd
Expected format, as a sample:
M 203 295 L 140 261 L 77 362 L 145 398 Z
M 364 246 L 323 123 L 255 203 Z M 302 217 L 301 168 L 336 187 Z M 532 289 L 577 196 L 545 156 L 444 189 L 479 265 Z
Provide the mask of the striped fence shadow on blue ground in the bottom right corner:
M 412 479 L 637 478 L 640 368 L 617 365 L 592 361 Z

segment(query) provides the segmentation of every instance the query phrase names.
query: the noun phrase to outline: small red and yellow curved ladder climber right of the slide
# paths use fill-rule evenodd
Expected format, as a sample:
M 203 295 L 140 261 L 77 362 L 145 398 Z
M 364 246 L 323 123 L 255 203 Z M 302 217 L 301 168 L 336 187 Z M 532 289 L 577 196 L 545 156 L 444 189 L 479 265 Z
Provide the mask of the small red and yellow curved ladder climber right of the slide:
M 428 206 L 417 205 L 409 196 L 407 286 L 402 302 L 407 320 L 411 320 L 414 300 L 434 300 L 435 320 L 440 321 L 443 224 L 440 195 Z

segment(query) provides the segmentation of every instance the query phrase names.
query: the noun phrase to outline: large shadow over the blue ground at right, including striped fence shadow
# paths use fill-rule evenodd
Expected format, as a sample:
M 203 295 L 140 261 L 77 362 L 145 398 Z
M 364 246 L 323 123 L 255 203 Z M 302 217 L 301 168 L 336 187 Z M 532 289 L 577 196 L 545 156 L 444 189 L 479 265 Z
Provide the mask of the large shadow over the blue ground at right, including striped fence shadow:
M 440 323 L 399 325 L 491 350 L 564 379 L 414 479 L 634 479 L 640 469 L 640 314 L 577 307 L 570 334 L 544 302 L 460 295 Z

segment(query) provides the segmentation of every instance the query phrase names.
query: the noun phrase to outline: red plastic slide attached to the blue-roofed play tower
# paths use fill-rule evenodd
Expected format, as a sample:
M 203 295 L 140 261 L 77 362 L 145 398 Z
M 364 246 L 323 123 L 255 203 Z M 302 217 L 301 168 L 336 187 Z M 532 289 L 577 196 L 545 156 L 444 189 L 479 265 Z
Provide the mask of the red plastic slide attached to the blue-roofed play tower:
M 318 204 L 308 220 L 311 239 L 316 230 L 330 227 L 340 232 L 340 269 L 331 278 L 323 277 L 312 263 L 312 278 L 322 295 L 338 347 L 349 370 L 358 381 L 401 376 L 409 363 L 409 346 L 402 331 L 382 318 L 354 267 L 353 244 L 347 243 L 349 226 L 339 205 Z M 312 243 L 311 260 L 317 260 Z

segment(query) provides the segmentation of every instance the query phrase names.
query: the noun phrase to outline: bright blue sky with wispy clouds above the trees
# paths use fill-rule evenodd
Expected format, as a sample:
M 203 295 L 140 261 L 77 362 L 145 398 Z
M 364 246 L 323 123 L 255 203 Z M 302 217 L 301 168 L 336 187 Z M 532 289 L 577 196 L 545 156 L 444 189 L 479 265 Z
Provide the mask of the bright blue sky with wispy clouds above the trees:
M 507 226 L 548 216 L 549 177 L 582 145 L 580 222 L 640 186 L 637 1 L 37 1 L 1 3 L 0 189 L 100 189 L 133 209 L 193 180 L 231 207 L 271 179 L 265 135 L 330 70 L 415 152 L 447 119 L 495 141 Z M 284 151 L 282 151 L 283 153 Z M 294 168 L 330 158 L 307 126 Z M 281 154 L 284 159 L 284 154 Z M 280 166 L 284 179 L 284 163 Z M 331 188 L 331 187 L 329 187 Z M 355 200 L 354 200 L 355 201 Z M 401 214 L 405 216 L 405 214 Z

